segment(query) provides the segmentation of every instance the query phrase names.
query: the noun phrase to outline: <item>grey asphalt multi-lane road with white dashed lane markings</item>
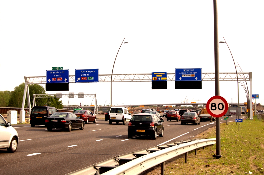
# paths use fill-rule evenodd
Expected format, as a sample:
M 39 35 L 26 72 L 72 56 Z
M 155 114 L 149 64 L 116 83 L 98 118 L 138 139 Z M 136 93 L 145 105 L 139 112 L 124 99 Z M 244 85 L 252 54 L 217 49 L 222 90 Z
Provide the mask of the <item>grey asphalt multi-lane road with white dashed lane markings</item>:
M 235 117 L 229 117 L 229 122 Z M 164 117 L 165 119 L 165 117 Z M 221 122 L 224 117 L 221 117 Z M 181 125 L 180 122 L 163 122 L 164 136 L 156 140 L 148 136 L 128 139 L 128 124 L 99 120 L 85 124 L 84 130 L 72 129 L 71 132 L 45 126 L 30 127 L 29 124 L 13 125 L 20 138 L 17 151 L 8 153 L 0 150 L 0 174 L 67 174 L 117 155 L 130 153 L 166 142 L 191 139 L 215 122 L 201 122 Z M 76 145 L 76 146 L 74 146 Z M 29 156 L 29 154 L 35 154 Z M 41 154 L 40 154 L 41 153 Z

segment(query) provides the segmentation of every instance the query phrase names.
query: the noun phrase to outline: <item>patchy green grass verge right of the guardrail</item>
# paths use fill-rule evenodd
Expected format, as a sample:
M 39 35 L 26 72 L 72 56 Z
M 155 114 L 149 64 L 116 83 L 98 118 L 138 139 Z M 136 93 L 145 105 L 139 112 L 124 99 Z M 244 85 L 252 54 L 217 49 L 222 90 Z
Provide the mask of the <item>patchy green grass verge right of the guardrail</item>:
M 188 163 L 185 163 L 184 154 L 166 161 L 165 174 L 264 174 L 264 123 L 256 116 L 253 119 L 243 120 L 240 131 L 235 122 L 220 125 L 222 158 L 212 157 L 216 153 L 216 145 L 205 150 L 200 148 L 197 155 L 194 151 L 188 153 Z M 194 138 L 215 138 L 215 126 Z M 160 170 L 158 165 L 142 175 L 161 174 Z

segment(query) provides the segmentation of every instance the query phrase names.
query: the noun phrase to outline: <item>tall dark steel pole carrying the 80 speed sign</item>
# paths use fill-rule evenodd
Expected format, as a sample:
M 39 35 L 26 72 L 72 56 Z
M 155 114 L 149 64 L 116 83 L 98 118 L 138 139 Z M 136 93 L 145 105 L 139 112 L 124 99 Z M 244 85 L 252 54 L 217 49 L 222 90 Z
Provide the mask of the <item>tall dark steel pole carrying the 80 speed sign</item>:
M 218 16 L 217 0 L 214 0 L 214 53 L 215 53 L 215 95 L 220 95 L 219 87 L 219 55 L 218 55 Z M 221 158 L 221 137 L 220 137 L 220 118 L 215 118 L 216 125 L 216 155 L 217 159 Z

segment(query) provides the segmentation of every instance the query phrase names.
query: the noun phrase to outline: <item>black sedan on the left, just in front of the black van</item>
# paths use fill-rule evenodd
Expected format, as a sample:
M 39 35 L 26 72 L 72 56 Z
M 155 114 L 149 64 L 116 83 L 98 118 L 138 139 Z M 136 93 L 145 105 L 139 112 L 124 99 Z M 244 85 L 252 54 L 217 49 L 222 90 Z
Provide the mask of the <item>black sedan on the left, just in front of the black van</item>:
M 46 118 L 45 126 L 48 131 L 52 131 L 53 128 L 61 128 L 66 131 L 71 131 L 72 128 L 83 130 L 84 121 L 71 112 L 55 112 Z

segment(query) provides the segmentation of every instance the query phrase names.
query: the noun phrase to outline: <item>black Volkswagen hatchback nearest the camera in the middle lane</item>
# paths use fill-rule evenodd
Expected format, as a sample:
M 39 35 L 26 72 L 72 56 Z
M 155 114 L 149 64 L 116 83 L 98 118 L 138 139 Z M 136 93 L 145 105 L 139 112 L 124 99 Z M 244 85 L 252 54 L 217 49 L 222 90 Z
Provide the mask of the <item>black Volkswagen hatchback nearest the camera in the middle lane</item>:
M 135 114 L 128 123 L 128 138 L 133 136 L 151 136 L 153 140 L 157 135 L 163 137 L 163 120 L 155 114 Z

